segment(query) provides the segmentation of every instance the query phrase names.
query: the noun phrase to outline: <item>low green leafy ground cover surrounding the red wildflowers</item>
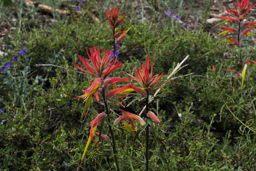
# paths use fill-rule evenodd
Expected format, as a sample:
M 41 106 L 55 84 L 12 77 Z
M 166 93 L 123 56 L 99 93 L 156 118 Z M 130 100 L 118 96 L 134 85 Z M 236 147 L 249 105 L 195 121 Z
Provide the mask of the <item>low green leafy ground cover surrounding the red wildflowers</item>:
M 62 3 L 57 0 L 38 2 L 58 8 Z M 72 5 L 72 2 L 68 3 Z M 95 6 L 95 3 L 98 5 Z M 0 120 L 6 121 L 0 124 L 0 169 L 82 170 L 76 164 L 69 166 L 81 157 L 81 151 L 68 131 L 76 130 L 76 139 L 84 149 L 90 129 L 84 127 L 104 109 L 94 101 L 80 120 L 84 104 L 74 97 L 80 95 L 93 78 L 80 72 L 73 63 L 82 66 L 78 55 L 87 58 L 86 47 L 96 46 L 101 52 L 104 48 L 112 48 L 111 32 L 104 13 L 113 4 L 107 1 L 95 3 L 80 3 L 80 9 L 85 10 L 83 14 L 73 12 L 70 16 L 60 16 L 54 12 L 49 16 L 41 13 L 38 7 L 23 6 L 22 1 L 0 2 L 2 21 L 10 25 L 14 24 L 12 18 L 21 21 L 16 22 L 16 29 L 0 42 L 6 45 L 1 50 L 8 52 L 8 55 L 0 58 L 0 66 L 10 62 L 16 52 L 22 50 L 19 46 L 24 41 L 28 51 L 26 56 L 19 56 L 16 62 L 12 62 L 14 67 L 8 70 L 6 76 L 0 75 L 0 108 L 4 111 L 0 114 Z M 128 78 L 125 72 L 133 73 L 146 56 L 150 56 L 154 63 L 154 74 L 165 73 L 162 80 L 187 55 L 190 55 L 185 62 L 188 66 L 173 77 L 194 73 L 164 85 L 164 93 L 150 103 L 150 108 L 162 122 L 160 128 L 163 131 L 155 125 L 158 153 L 168 159 L 172 170 L 256 169 L 255 143 L 250 140 L 254 137 L 244 135 L 241 124 L 223 107 L 218 89 L 220 87 L 222 93 L 228 95 L 226 101 L 237 117 L 244 123 L 252 119 L 252 108 L 248 105 L 251 99 L 240 91 L 240 80 L 233 92 L 236 76 L 226 72 L 230 67 L 240 70 L 235 65 L 236 49 L 219 43 L 212 34 L 204 32 L 203 25 L 196 30 L 183 28 L 177 22 L 172 26 L 165 12 L 168 8 L 179 6 L 178 1 L 143 1 L 142 9 L 132 3 L 115 3 L 122 8 L 121 15 L 127 14 L 122 22 L 122 30 L 133 25 L 119 43 L 118 60 L 123 67 L 116 71 L 115 76 Z M 135 14 L 143 10 L 151 13 L 147 16 Z M 205 11 L 203 9 L 202 14 L 206 14 Z M 182 8 L 176 12 L 182 14 L 183 20 L 186 19 Z M 93 20 L 90 15 L 96 16 L 100 22 Z M 40 16 L 44 16 L 48 24 L 40 24 Z M 142 17 L 148 20 L 142 22 Z M 54 22 L 50 22 L 50 19 Z M 227 49 L 231 49 L 229 53 L 232 58 L 224 57 Z M 255 54 L 255 46 L 250 48 L 250 52 L 251 56 Z M 244 53 L 246 59 L 251 56 Z M 216 70 L 212 70 L 213 65 Z M 253 71 L 250 72 L 249 83 L 255 85 Z M 255 94 L 254 88 L 251 93 Z M 133 95 L 126 97 L 127 102 L 132 99 Z M 128 110 L 138 114 L 142 107 L 143 103 L 137 101 Z M 120 106 L 113 104 L 110 108 L 114 121 L 114 112 L 119 113 Z M 137 126 L 136 130 L 139 129 Z M 107 130 L 102 133 L 109 134 Z M 126 163 L 129 157 L 124 154 L 131 152 L 133 137 L 124 131 L 116 131 L 115 134 L 120 151 L 118 158 Z M 140 135 L 138 139 L 144 142 L 146 138 Z M 102 141 L 99 146 L 103 144 Z M 150 148 L 154 149 L 154 139 L 150 144 Z M 141 148 L 138 142 L 135 147 Z M 104 153 L 94 153 L 88 158 L 86 169 L 113 170 L 114 162 L 109 157 L 109 149 L 109 145 L 106 145 L 99 149 Z M 93 143 L 89 150 L 94 150 Z M 140 154 L 134 155 L 138 157 Z M 150 155 L 150 169 L 164 170 L 162 161 L 153 153 Z M 143 166 L 137 167 L 134 165 L 134 170 L 143 170 Z M 123 170 L 132 169 L 123 166 Z

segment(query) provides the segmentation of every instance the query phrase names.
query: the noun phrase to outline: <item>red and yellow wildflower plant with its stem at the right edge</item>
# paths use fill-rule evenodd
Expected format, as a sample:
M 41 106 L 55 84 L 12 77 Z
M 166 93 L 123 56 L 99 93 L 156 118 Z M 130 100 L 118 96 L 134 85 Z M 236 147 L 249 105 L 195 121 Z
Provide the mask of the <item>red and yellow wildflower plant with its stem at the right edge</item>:
M 245 74 L 246 74 L 246 68 L 248 63 L 253 62 L 254 64 L 256 64 L 255 61 L 253 60 L 245 60 L 243 62 L 243 58 L 242 58 L 242 53 L 241 53 L 241 47 L 242 47 L 242 40 L 245 36 L 256 36 L 256 34 L 253 34 L 253 30 L 256 29 L 256 22 L 244 22 L 244 19 L 246 19 L 249 14 L 250 14 L 250 10 L 255 6 L 256 4 L 250 4 L 249 0 L 237 0 L 237 6 L 234 5 L 233 3 L 233 9 L 231 8 L 226 8 L 227 12 L 228 12 L 228 16 L 219 16 L 218 18 L 222 18 L 225 19 L 223 22 L 221 22 L 220 24 L 217 24 L 216 26 L 219 26 L 221 24 L 224 24 L 226 22 L 234 22 L 236 28 L 224 28 L 222 27 L 221 29 L 224 30 L 224 32 L 221 32 L 220 34 L 218 34 L 217 36 L 220 36 L 222 34 L 226 34 L 223 37 L 227 37 L 227 36 L 233 36 L 233 38 L 228 37 L 228 40 L 224 40 L 221 42 L 228 42 L 230 44 L 235 44 L 238 48 L 238 58 L 240 59 L 240 65 L 241 65 L 241 69 L 242 69 L 242 73 L 234 71 L 234 70 L 230 70 L 228 69 L 228 71 L 231 72 L 235 72 L 236 73 L 236 79 L 234 80 L 234 86 L 236 81 L 238 80 L 238 78 L 241 76 L 242 77 L 242 86 L 241 89 L 243 87 L 244 84 L 244 80 L 245 80 Z M 246 41 L 250 41 L 250 40 L 246 40 Z M 248 90 L 248 94 L 249 97 L 252 98 L 251 94 L 250 94 L 250 88 L 249 85 L 247 83 L 247 81 L 245 80 L 246 83 L 246 87 Z M 234 90 L 234 86 L 233 86 L 233 90 Z M 252 101 L 252 107 L 254 110 L 254 129 L 256 127 L 256 109 L 255 109 L 255 105 L 254 102 Z

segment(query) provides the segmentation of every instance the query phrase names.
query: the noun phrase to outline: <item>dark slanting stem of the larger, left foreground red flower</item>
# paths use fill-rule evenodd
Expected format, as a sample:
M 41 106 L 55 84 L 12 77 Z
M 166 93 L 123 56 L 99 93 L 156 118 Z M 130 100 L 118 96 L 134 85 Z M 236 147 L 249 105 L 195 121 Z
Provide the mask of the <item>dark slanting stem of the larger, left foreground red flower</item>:
M 107 102 L 106 102 L 105 87 L 102 87 L 102 97 L 103 97 L 104 105 L 105 105 L 105 108 L 106 108 L 106 114 L 108 115 L 108 117 L 107 117 L 108 123 L 110 123 L 110 116 L 109 116 L 109 111 L 108 111 L 108 104 L 107 104 Z M 108 124 L 108 128 L 109 128 L 110 135 L 111 135 L 111 138 L 112 138 L 112 147 L 113 147 L 113 153 L 114 153 L 114 160 L 115 160 L 115 163 L 116 163 L 116 169 L 117 169 L 118 171 L 120 171 L 119 165 L 118 165 L 118 161 L 117 161 L 117 157 L 116 157 L 116 155 L 115 155 L 115 154 L 117 154 L 115 137 L 114 137 L 114 133 L 113 133 L 113 130 L 112 130 L 112 127 L 111 127 L 110 124 Z

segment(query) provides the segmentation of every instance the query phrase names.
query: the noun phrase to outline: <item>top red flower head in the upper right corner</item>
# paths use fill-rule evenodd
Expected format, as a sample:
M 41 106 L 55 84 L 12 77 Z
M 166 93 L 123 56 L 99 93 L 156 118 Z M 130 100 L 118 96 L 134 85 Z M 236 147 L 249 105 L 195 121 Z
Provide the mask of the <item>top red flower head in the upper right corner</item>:
M 240 38 L 242 38 L 242 36 L 244 36 L 244 35 L 256 36 L 255 34 L 252 34 L 249 32 L 252 28 L 256 28 L 256 22 L 252 22 L 252 21 L 251 22 L 243 22 L 244 19 L 247 18 L 247 16 L 249 15 L 248 12 L 256 4 L 249 6 L 249 4 L 250 4 L 249 0 L 241 0 L 241 1 L 237 0 L 237 4 L 238 4 L 238 6 L 234 6 L 234 3 L 233 3 L 233 9 L 226 8 L 226 10 L 228 12 L 228 16 L 225 16 L 225 17 L 219 16 L 218 18 L 222 18 L 225 20 L 223 22 L 217 24 L 216 26 L 219 26 L 223 23 L 230 22 L 230 21 L 233 21 L 236 24 L 238 24 L 238 29 L 222 27 L 221 29 L 224 30 L 224 32 L 221 32 L 217 36 L 220 36 L 222 34 L 227 34 L 223 37 L 230 36 L 230 35 L 238 35 L 238 40 L 233 40 L 231 38 L 228 38 L 228 40 L 221 41 L 221 42 L 228 42 L 230 44 L 236 44 L 236 45 L 240 46 Z M 230 17 L 230 15 L 233 15 L 234 17 Z M 242 32 L 243 29 L 245 29 L 245 30 Z

